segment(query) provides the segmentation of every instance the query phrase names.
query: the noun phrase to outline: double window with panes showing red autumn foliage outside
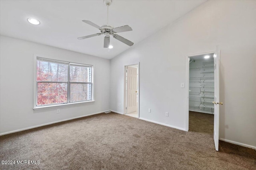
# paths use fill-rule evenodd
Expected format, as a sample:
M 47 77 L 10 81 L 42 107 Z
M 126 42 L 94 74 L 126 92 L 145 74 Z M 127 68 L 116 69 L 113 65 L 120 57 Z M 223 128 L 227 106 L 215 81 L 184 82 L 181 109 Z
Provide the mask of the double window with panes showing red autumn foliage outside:
M 92 101 L 92 66 L 36 58 L 36 107 Z

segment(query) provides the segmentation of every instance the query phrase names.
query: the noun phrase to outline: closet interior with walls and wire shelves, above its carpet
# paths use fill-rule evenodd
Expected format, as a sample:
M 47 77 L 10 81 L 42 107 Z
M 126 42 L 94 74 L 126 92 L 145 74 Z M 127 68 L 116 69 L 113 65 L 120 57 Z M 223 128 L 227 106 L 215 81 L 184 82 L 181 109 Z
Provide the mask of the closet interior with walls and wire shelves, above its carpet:
M 189 111 L 214 114 L 214 59 L 209 56 L 190 58 Z

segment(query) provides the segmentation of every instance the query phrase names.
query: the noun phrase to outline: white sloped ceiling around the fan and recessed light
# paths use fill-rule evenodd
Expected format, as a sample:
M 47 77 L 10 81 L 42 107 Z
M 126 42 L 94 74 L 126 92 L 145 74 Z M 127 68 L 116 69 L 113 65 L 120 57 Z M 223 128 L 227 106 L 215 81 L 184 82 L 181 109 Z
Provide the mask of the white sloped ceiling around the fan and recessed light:
M 109 25 L 129 25 L 133 31 L 118 35 L 136 43 L 177 20 L 205 0 L 112 0 Z M 130 48 L 110 37 L 113 49 L 103 48 L 104 35 L 78 40 L 100 31 L 82 20 L 106 24 L 103 0 L 6 0 L 0 1 L 0 33 L 53 47 L 112 59 Z M 40 25 L 28 23 L 36 18 Z

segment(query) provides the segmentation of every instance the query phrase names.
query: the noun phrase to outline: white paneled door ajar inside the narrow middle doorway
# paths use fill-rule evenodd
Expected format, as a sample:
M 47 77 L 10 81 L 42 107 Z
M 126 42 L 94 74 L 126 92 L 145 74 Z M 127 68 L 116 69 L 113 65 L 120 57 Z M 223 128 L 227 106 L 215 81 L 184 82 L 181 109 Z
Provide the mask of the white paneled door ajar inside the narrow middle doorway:
M 137 68 L 127 66 L 127 114 L 137 111 Z

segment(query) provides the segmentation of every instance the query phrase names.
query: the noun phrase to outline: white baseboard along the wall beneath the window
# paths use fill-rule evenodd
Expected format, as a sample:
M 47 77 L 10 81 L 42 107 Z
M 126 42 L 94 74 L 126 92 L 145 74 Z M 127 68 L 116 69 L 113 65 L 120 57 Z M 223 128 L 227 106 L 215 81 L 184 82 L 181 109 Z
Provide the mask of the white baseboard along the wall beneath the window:
M 109 111 L 109 110 L 106 110 L 106 111 Z M 91 113 L 91 114 L 88 114 L 88 115 L 82 115 L 82 116 L 78 116 L 78 117 L 72 117 L 72 118 L 69 118 L 69 119 L 63 119 L 63 120 L 59 120 L 59 121 L 53 121 L 53 122 L 50 122 L 50 123 L 44 123 L 44 124 L 41 124 L 41 125 L 26 127 L 26 128 L 23 128 L 23 129 L 18 129 L 18 130 L 14 130 L 14 131 L 9 131 L 9 132 L 5 132 L 5 133 L 0 133 L 0 136 L 2 136 L 2 135 L 7 135 L 7 134 L 10 134 L 10 133 L 20 132 L 20 131 L 26 131 L 26 130 L 28 130 L 28 129 L 34 129 L 34 128 L 36 128 L 36 127 L 51 125 L 51 124 L 59 123 L 59 122 L 62 122 L 62 121 L 68 121 L 68 120 L 72 120 L 72 119 L 78 119 L 78 118 L 81 118 L 81 117 L 96 115 L 96 114 L 104 113 L 104 112 L 105 112 L 105 111 L 100 111 L 100 112 Z

